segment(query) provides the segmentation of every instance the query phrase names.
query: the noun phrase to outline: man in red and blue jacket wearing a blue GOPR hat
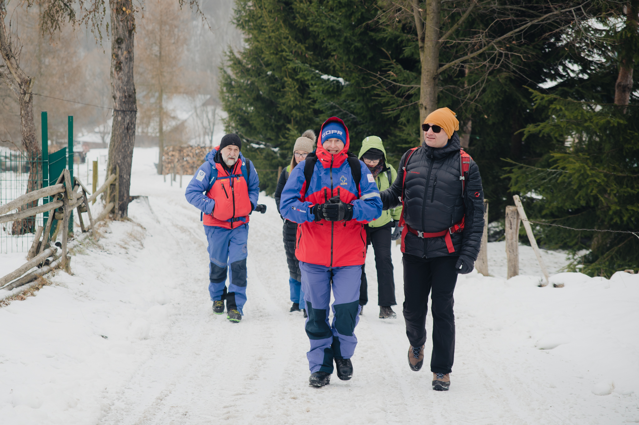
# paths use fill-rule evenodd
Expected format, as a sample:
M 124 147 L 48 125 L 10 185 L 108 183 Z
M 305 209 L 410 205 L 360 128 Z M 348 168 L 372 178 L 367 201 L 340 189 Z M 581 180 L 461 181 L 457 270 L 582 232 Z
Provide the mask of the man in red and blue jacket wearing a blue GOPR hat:
M 309 384 L 330 383 L 333 359 L 337 377 L 353 375 L 350 357 L 357 338 L 359 288 L 366 260 L 364 224 L 381 215 L 380 191 L 373 175 L 356 156 L 348 154 L 344 121 L 329 118 L 320 131 L 318 147 L 291 170 L 282 191 L 280 213 L 300 223 L 295 256 L 300 260 L 302 289 L 308 318 L 306 334 Z M 328 322 L 330 291 L 335 302 Z

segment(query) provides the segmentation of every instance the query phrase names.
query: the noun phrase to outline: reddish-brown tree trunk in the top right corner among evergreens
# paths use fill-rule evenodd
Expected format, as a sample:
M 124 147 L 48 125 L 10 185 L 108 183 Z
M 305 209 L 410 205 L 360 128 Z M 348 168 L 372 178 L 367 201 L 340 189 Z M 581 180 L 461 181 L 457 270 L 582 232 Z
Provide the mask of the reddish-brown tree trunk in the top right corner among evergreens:
M 626 28 L 624 32 L 627 35 L 620 43 L 619 76 L 615 83 L 616 105 L 627 105 L 630 101 L 630 93 L 633 91 L 634 56 L 636 53 L 633 46 L 636 45 L 636 39 L 639 38 L 638 12 L 639 0 L 631 0 L 624 5 L 624 13 L 626 13 Z M 625 112 L 626 108 L 624 108 L 624 113 Z

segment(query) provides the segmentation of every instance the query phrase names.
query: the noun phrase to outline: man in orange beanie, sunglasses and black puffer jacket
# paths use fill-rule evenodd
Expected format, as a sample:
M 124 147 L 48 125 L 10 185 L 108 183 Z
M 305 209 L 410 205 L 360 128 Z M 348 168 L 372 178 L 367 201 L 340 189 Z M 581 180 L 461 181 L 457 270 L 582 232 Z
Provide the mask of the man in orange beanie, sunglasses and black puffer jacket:
M 457 274 L 471 272 L 479 253 L 484 191 L 477 164 L 468 154 L 460 153 L 455 131 L 459 121 L 454 112 L 449 108 L 432 112 L 422 130 L 424 142 L 401 158 L 397 178 L 381 192 L 381 200 L 383 209 L 390 209 L 403 199 L 406 225 L 401 250 L 408 362 L 414 371 L 422 367 L 427 301 L 432 292 L 431 371 L 433 389 L 441 391 L 449 389 L 455 351 L 452 295 Z

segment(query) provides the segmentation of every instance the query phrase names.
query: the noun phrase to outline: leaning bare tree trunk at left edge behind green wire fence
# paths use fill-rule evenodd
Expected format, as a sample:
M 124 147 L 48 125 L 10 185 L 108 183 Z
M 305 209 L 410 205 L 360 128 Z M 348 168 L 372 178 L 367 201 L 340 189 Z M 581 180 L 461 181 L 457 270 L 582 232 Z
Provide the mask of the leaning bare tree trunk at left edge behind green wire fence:
M 38 190 L 41 187 L 40 181 L 40 146 L 36 139 L 36 126 L 33 122 L 33 77 L 29 77 L 22 68 L 15 52 L 19 52 L 19 47 L 13 45 L 10 33 L 6 31 L 4 19 L 6 17 L 6 1 L 0 0 L 0 56 L 3 58 L 4 66 L 0 66 L 0 80 L 11 89 L 20 104 L 20 133 L 22 135 L 22 145 L 26 150 L 29 164 L 29 177 L 27 183 L 27 193 Z M 21 210 L 37 205 L 37 201 L 22 205 Z M 24 234 L 35 231 L 35 218 L 28 217 L 20 221 L 13 222 L 12 234 Z

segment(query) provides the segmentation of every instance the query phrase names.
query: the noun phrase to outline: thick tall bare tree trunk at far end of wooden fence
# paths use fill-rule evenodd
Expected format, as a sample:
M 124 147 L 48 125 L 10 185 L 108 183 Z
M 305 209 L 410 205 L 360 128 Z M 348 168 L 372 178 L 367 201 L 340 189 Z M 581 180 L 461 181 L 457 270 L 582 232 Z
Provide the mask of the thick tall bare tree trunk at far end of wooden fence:
M 119 215 L 127 216 L 131 186 L 131 162 L 135 143 L 135 84 L 133 79 L 133 40 L 135 16 L 131 0 L 110 0 L 111 7 L 111 93 L 113 124 L 107 170 L 119 166 Z M 112 188 L 114 190 L 114 188 Z M 107 199 L 106 203 L 109 203 Z

